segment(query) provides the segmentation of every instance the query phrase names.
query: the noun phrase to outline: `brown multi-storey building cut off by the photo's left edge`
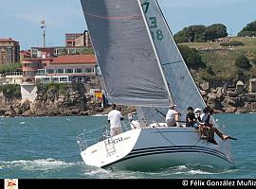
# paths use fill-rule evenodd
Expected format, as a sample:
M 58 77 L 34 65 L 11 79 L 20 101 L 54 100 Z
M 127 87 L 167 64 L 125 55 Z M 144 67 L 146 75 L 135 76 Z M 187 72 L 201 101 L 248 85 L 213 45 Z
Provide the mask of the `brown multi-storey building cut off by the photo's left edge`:
M 20 44 L 9 39 L 0 39 L 0 64 L 20 61 Z

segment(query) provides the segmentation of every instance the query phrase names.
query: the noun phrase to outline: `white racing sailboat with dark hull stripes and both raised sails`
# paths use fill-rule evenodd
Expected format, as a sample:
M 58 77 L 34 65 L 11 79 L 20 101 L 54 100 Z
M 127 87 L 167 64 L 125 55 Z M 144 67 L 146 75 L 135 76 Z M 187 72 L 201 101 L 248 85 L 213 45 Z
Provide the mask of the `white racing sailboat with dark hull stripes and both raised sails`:
M 180 164 L 234 165 L 229 140 L 201 140 L 198 130 L 166 127 L 175 104 L 205 108 L 156 0 L 81 0 L 108 102 L 137 107 L 141 128 L 96 140 L 78 136 L 84 163 L 102 168 L 159 169 Z

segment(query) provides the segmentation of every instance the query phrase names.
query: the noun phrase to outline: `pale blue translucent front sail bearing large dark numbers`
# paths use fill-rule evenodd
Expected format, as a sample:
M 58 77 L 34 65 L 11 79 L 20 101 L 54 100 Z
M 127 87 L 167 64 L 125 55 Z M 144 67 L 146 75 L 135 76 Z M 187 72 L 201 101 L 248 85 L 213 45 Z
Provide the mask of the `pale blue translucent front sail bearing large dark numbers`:
M 172 98 L 184 118 L 187 108 L 204 108 L 205 101 L 200 94 L 192 75 L 183 60 L 173 35 L 156 0 L 140 0 L 158 58 L 162 64 L 165 76 L 171 89 Z M 150 115 L 148 108 L 142 108 Z

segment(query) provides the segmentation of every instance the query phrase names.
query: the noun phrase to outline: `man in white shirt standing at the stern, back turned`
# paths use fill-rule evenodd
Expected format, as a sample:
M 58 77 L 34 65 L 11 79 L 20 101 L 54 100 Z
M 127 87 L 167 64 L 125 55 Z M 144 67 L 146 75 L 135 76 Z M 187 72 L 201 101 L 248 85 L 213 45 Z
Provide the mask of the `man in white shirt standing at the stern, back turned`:
M 112 111 L 107 115 L 108 123 L 110 124 L 111 136 L 121 133 L 121 120 L 123 120 L 122 114 L 117 110 L 117 105 L 112 105 Z

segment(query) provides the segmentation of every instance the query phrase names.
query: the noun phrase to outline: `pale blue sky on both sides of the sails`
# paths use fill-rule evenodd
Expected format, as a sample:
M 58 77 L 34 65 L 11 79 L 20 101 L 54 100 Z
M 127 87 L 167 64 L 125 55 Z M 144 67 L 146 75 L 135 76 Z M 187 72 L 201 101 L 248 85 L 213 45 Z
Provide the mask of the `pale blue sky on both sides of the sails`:
M 173 33 L 185 26 L 220 23 L 234 36 L 256 20 L 255 0 L 158 2 Z M 21 49 L 43 45 L 42 20 L 46 20 L 46 46 L 63 46 L 65 33 L 86 29 L 80 0 L 0 0 L 0 38 L 20 42 Z

